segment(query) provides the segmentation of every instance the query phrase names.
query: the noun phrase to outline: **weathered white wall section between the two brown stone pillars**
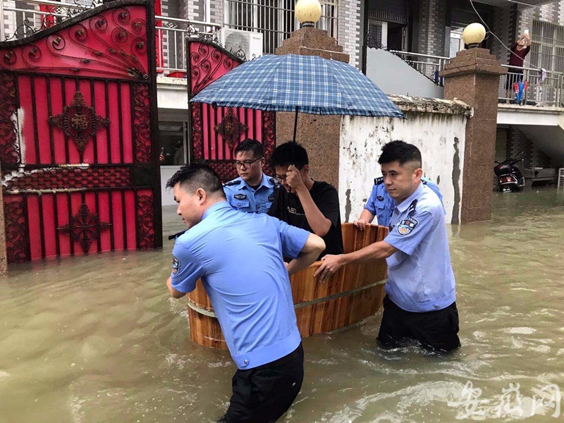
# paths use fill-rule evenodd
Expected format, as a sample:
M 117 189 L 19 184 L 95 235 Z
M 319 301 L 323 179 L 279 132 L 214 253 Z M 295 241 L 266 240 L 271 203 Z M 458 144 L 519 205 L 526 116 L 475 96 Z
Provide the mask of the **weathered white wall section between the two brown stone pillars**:
M 421 150 L 424 176 L 439 185 L 443 194 L 447 223 L 460 221 L 466 116 L 405 115 L 405 120 L 343 116 L 338 187 L 343 221 L 352 222 L 360 216 L 374 178 L 381 176 L 381 147 L 393 140 L 409 142 Z

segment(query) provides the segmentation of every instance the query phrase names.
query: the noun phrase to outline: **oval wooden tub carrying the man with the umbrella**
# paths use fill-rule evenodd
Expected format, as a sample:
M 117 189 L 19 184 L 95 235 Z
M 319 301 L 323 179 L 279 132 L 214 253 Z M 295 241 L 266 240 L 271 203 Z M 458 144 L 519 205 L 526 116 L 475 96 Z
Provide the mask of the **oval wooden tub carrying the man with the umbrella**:
M 345 252 L 360 250 L 384 240 L 388 233 L 388 228 L 384 226 L 367 226 L 364 231 L 359 231 L 352 223 L 343 223 L 341 230 Z M 362 321 L 378 312 L 384 300 L 385 259 L 347 264 L 324 283 L 317 282 L 313 277 L 320 264 L 315 262 L 290 278 L 302 338 Z M 187 298 L 192 341 L 209 348 L 226 350 L 223 333 L 202 281 L 197 281 L 196 289 Z

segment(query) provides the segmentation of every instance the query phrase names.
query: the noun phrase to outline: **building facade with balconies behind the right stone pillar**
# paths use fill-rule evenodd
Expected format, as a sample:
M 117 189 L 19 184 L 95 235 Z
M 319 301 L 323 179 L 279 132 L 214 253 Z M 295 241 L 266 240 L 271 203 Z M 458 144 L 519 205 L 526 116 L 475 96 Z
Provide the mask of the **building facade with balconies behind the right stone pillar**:
M 507 94 L 505 87 L 513 87 L 513 80 L 505 82 L 504 78 L 515 78 L 516 75 L 501 78 L 500 109 L 514 111 L 519 118 L 498 119 L 496 159 L 504 160 L 523 151 L 522 167 L 537 168 L 538 171 L 538 168 L 564 166 L 564 130 L 556 124 L 540 126 L 537 115 L 532 113 L 541 106 L 552 107 L 554 114 L 562 113 L 564 1 L 367 0 L 362 13 L 367 33 L 361 37 L 361 63 L 367 75 L 384 91 L 388 82 L 393 87 L 391 90 L 398 90 L 397 81 L 392 84 L 394 81 L 386 75 L 379 75 L 382 69 L 388 75 L 391 67 L 399 69 L 397 60 L 390 59 L 387 63 L 382 54 L 374 51 L 384 47 L 406 52 L 398 55 L 427 77 L 427 80 L 418 79 L 418 75 L 409 71 L 395 73 L 395 79 L 402 75 L 405 92 L 386 91 L 388 94 L 440 92 L 441 88 L 434 88 L 433 84 L 441 85 L 440 69 L 464 49 L 462 30 L 470 23 L 484 23 L 493 33 L 486 36 L 482 47 L 490 49 L 502 64 L 509 63 L 509 49 L 524 32 L 529 32 L 532 47 L 523 70 L 524 79 L 529 83 L 527 102 L 521 108 L 512 104 L 505 106 L 505 97 L 513 94 Z M 560 142 L 562 154 L 549 145 L 555 142 Z

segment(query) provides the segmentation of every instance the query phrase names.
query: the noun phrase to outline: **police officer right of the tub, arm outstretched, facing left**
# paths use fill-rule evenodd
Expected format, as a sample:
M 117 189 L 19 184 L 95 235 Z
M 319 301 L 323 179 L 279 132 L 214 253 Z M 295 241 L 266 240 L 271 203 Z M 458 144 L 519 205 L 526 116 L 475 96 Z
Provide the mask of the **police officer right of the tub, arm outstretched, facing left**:
M 315 276 L 321 281 L 344 264 L 386 257 L 388 281 L 378 341 L 396 346 L 410 338 L 424 348 L 460 346 L 455 279 L 445 216 L 439 197 L 421 183 L 421 152 L 392 141 L 378 160 L 395 208 L 383 241 L 345 255 L 326 255 Z

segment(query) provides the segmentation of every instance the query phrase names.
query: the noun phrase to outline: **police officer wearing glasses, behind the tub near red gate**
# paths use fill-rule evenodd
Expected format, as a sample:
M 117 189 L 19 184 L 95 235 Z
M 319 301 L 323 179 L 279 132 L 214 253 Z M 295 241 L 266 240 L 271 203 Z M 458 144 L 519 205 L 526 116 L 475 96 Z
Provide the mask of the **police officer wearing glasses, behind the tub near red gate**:
M 241 212 L 268 212 L 274 200 L 276 181 L 262 172 L 265 163 L 262 144 L 247 138 L 233 153 L 239 177 L 223 185 L 227 202 Z

